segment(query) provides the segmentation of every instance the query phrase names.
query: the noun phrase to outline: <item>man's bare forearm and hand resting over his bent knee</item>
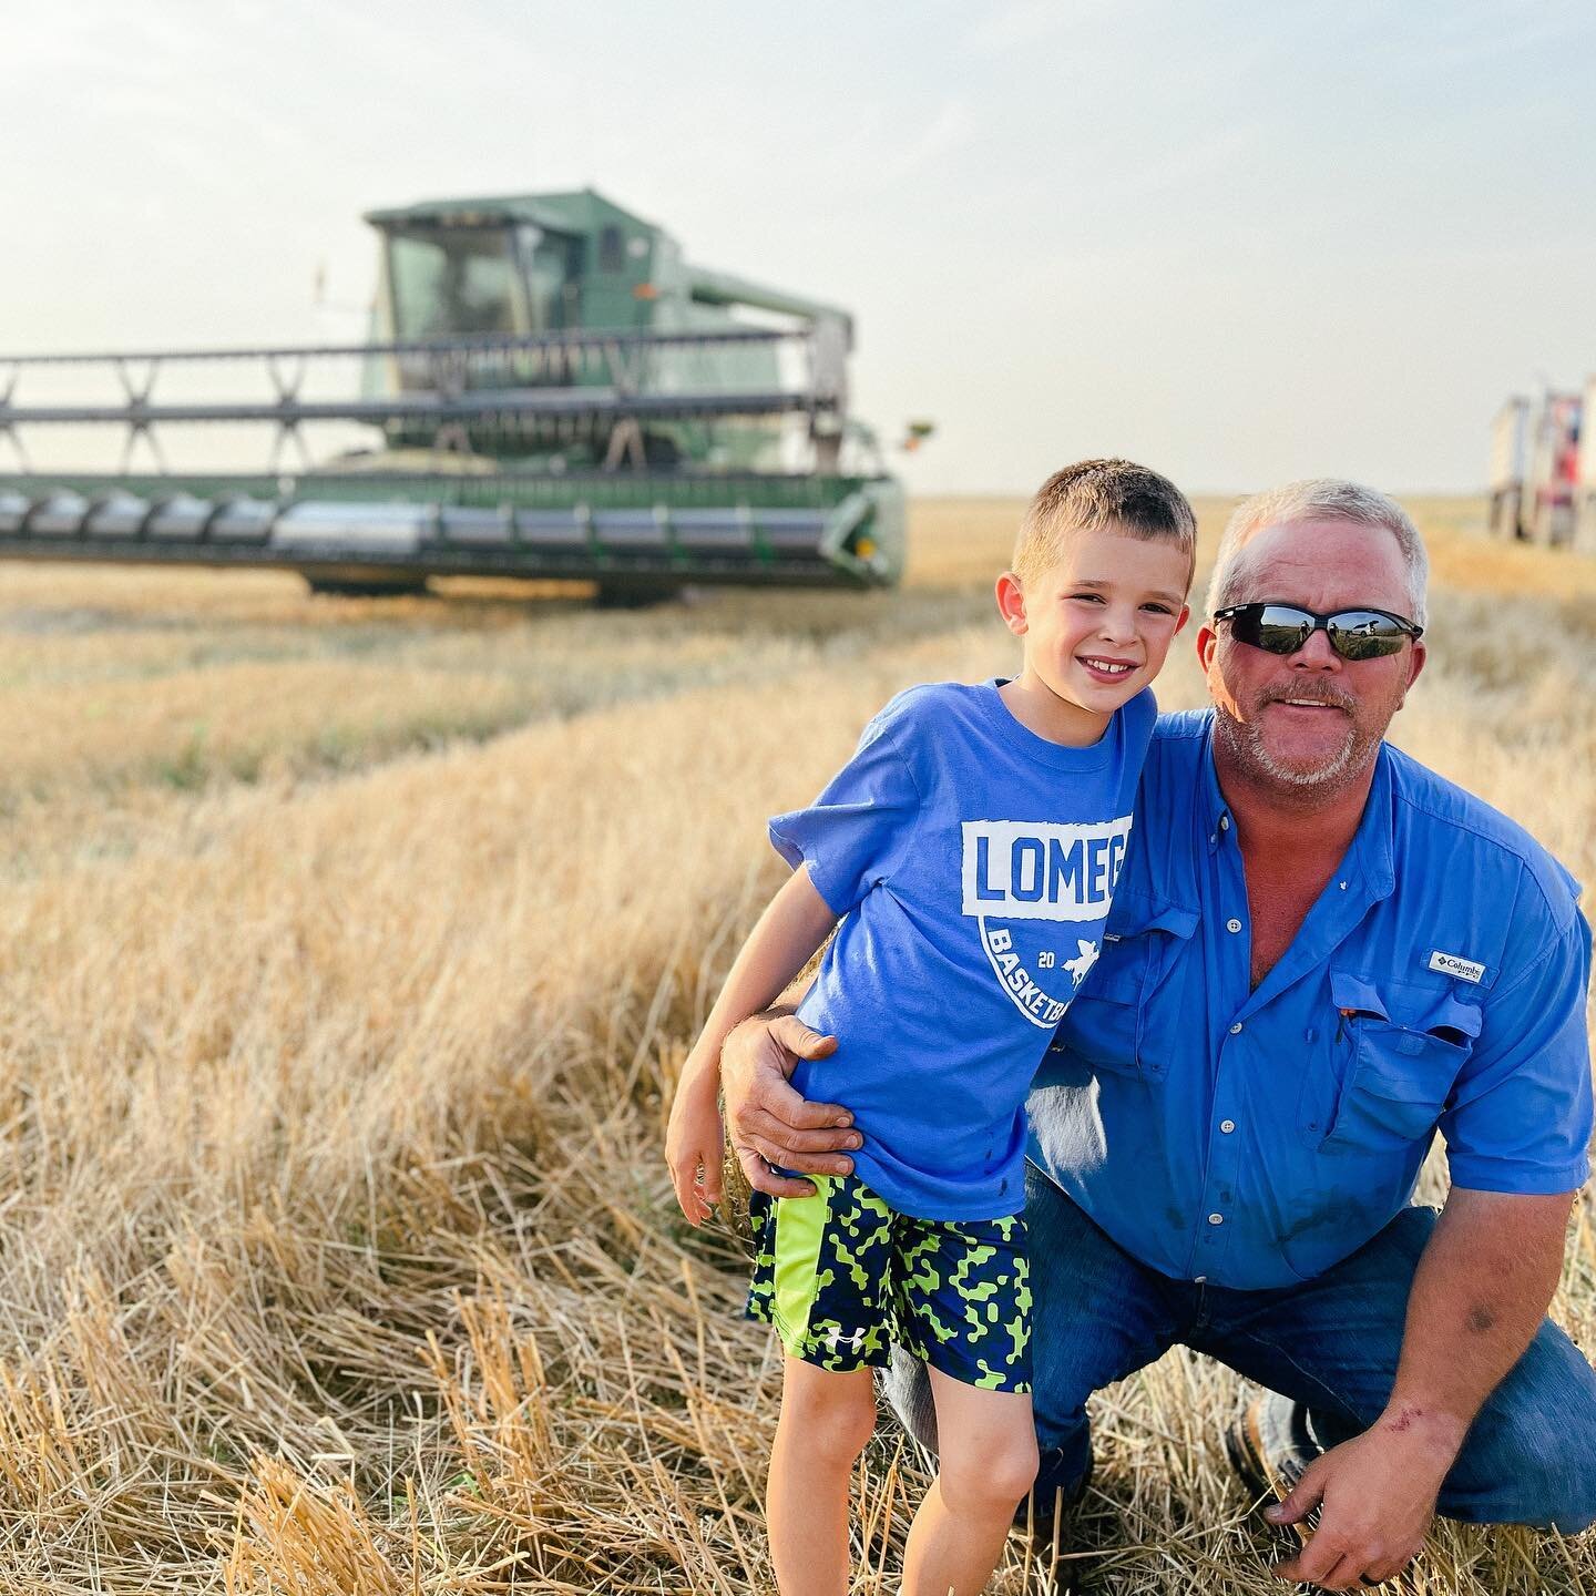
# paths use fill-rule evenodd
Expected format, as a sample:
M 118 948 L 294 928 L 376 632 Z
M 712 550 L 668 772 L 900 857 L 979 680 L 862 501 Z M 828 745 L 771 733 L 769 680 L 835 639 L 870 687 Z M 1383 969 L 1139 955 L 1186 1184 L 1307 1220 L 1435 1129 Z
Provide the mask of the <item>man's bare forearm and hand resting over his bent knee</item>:
M 1551 1302 L 1572 1203 L 1572 1192 L 1452 1187 L 1414 1272 L 1385 1411 L 1269 1510 L 1293 1524 L 1323 1500 L 1318 1529 L 1275 1567 L 1280 1578 L 1347 1590 L 1390 1578 L 1417 1553 L 1475 1414 Z

